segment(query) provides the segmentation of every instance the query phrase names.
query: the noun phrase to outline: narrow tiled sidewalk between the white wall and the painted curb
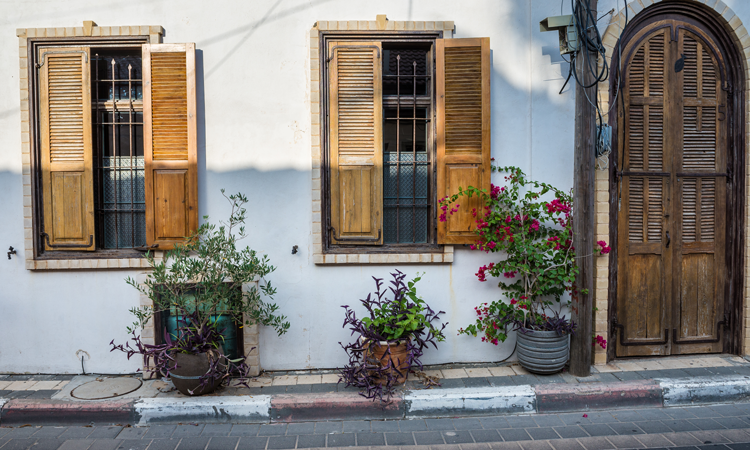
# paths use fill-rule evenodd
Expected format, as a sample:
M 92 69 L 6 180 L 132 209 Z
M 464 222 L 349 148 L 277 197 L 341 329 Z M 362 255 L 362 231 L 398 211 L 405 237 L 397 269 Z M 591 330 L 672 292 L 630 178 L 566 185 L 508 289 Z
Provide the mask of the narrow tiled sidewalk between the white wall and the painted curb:
M 549 383 L 618 382 L 653 378 L 689 378 L 713 375 L 748 375 L 750 362 L 730 355 L 704 357 L 671 357 L 618 361 L 606 366 L 593 366 L 592 375 L 577 378 L 568 373 L 551 376 L 534 375 L 518 364 L 451 364 L 427 367 L 425 375 L 437 377 L 440 388 L 539 385 Z M 0 375 L 0 398 L 51 398 L 73 379 L 74 375 Z M 155 387 L 162 384 L 155 381 Z M 257 395 L 283 393 L 322 393 L 354 391 L 338 384 L 335 371 L 266 372 L 254 378 L 246 387 L 229 387 L 212 395 Z M 408 390 L 425 389 L 416 376 L 410 376 L 404 386 Z M 162 389 L 167 390 L 167 389 Z M 158 392 L 158 391 L 157 391 Z M 176 391 L 159 392 L 157 397 L 176 397 Z

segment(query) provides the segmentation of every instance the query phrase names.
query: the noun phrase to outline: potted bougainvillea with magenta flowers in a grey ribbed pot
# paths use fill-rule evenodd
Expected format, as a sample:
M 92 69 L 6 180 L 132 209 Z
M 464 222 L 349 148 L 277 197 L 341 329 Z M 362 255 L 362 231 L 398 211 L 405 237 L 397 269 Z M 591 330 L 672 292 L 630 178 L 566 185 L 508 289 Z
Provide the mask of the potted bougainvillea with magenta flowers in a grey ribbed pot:
M 441 200 L 441 218 L 453 213 L 459 197 L 479 196 L 484 204 L 473 210 L 477 241 L 472 249 L 499 253 L 502 259 L 476 273 L 503 281 L 498 286 L 507 302 L 495 300 L 474 308 L 476 321 L 459 333 L 482 336 L 498 345 L 509 330 L 518 331 L 518 360 L 536 373 L 560 371 L 568 360 L 569 337 L 576 324 L 562 314 L 566 293 L 576 295 L 578 267 L 572 247 L 572 197 L 549 184 L 530 181 L 517 167 L 492 167 L 506 172 L 507 186 L 491 191 L 469 187 Z M 450 209 L 449 209 L 450 208 Z

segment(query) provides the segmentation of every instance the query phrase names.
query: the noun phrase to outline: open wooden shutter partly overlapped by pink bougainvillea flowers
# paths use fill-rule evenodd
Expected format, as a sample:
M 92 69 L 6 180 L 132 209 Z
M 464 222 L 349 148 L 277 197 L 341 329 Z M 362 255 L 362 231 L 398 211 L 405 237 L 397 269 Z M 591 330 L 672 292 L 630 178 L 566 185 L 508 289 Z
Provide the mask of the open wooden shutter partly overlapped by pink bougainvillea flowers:
M 459 188 L 490 189 L 490 39 L 437 40 L 437 197 Z M 461 197 L 457 213 L 438 222 L 438 244 L 476 242 L 472 209 Z

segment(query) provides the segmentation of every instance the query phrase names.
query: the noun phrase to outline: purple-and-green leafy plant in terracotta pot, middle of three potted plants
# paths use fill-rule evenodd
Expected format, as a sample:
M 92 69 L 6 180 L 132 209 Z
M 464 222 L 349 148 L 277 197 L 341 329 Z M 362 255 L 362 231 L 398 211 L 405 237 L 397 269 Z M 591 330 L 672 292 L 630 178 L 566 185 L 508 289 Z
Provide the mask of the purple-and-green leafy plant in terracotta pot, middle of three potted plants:
M 394 387 L 406 381 L 412 367 L 422 369 L 419 358 L 425 347 L 432 344 L 437 348 L 437 343 L 445 340 L 443 330 L 448 325 L 433 325 L 444 312 L 434 312 L 417 295 L 419 274 L 406 282 L 406 275 L 398 270 L 391 276 L 389 289 L 383 289 L 382 278 L 373 277 L 375 292 L 360 300 L 366 317 L 357 318 L 353 309 L 342 306 L 346 311 L 343 326 L 357 339 L 348 345 L 339 343 L 349 356 L 340 381 L 382 402 L 390 400 Z

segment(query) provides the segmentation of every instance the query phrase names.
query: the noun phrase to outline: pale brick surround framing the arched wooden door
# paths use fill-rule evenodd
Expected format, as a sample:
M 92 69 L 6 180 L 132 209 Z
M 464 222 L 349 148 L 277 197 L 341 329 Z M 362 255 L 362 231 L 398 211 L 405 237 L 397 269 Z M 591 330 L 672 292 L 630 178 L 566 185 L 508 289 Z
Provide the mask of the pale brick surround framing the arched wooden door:
M 662 0 L 630 0 L 627 2 L 625 8 L 628 8 L 628 18 L 635 17 L 638 13 L 643 11 L 648 6 L 659 3 Z M 735 41 L 735 45 L 745 55 L 745 120 L 746 129 L 750 130 L 750 34 L 748 30 L 742 24 L 742 20 L 735 14 L 735 12 L 729 8 L 721 0 L 686 0 L 692 3 L 705 5 L 720 16 L 720 19 L 724 22 L 724 26 L 727 32 L 732 36 Z M 602 42 L 607 49 L 607 63 L 611 64 L 612 57 L 617 45 L 617 41 L 620 38 L 620 34 L 625 28 L 625 8 L 618 11 L 617 14 L 612 16 L 612 19 L 607 27 L 604 35 L 602 36 Z M 609 109 L 609 81 L 599 83 L 599 97 L 601 98 L 601 107 L 605 111 Z M 605 122 L 608 120 L 608 114 L 605 114 Z M 747 132 L 745 137 L 746 151 L 750 149 L 750 132 Z M 745 164 L 750 168 L 750 158 L 746 158 Z M 750 170 L 747 171 L 745 182 L 745 215 L 748 214 L 748 202 L 750 201 Z M 596 214 L 596 240 L 604 240 L 609 242 L 609 172 L 608 171 L 596 171 L 596 200 L 595 200 L 595 214 Z M 742 329 L 742 354 L 750 355 L 750 302 L 747 301 L 750 296 L 750 226 L 746 225 L 745 228 L 745 305 L 744 305 L 744 317 L 743 317 L 743 329 Z M 608 334 L 609 329 L 609 303 L 608 303 L 608 289 L 609 289 L 609 256 L 601 256 L 596 260 L 595 268 L 595 296 L 594 305 L 597 310 L 594 314 L 594 335 L 601 335 L 608 342 L 613 342 Z M 594 364 L 606 364 L 607 363 L 607 351 L 596 345 L 594 347 L 593 354 Z

